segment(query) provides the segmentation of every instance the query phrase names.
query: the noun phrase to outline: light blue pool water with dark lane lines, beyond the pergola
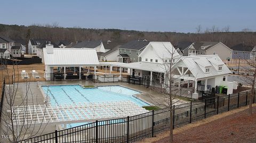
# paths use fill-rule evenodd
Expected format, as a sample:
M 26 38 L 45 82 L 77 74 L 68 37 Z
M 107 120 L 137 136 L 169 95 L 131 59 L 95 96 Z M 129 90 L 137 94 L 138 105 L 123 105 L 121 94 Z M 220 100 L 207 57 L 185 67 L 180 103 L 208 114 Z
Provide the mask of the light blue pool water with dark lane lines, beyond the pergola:
M 100 86 L 98 88 L 82 88 L 80 85 L 42 86 L 44 94 L 50 97 L 51 105 L 84 102 L 104 102 L 130 100 L 139 106 L 149 104 L 133 97 L 139 91 L 122 86 Z

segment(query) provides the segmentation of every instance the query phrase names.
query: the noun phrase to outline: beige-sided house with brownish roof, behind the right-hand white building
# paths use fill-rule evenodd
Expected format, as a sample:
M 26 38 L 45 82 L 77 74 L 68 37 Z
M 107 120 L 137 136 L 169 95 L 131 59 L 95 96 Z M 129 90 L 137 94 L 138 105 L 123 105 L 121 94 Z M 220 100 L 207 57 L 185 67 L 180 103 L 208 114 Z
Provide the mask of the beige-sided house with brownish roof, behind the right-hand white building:
M 221 60 L 232 58 L 232 50 L 221 42 L 179 42 L 175 47 L 182 52 L 182 56 L 218 55 Z

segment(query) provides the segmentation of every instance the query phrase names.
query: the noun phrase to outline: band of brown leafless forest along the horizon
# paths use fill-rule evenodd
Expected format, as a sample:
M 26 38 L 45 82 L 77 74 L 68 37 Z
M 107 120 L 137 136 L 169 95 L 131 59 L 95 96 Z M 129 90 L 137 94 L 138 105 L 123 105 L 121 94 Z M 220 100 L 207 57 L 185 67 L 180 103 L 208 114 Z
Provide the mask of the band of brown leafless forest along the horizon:
M 30 38 L 44 38 L 51 41 L 67 40 L 70 42 L 83 40 L 111 40 L 130 41 L 133 39 L 147 39 L 149 41 L 170 41 L 173 45 L 179 41 L 221 41 L 231 47 L 239 43 L 256 45 L 256 32 L 243 29 L 241 32 L 230 32 L 229 27 L 219 30 L 216 27 L 202 30 L 201 26 L 195 28 L 197 33 L 180 32 L 149 32 L 120 29 L 89 29 L 89 28 L 63 28 L 58 23 L 31 26 L 18 26 L 0 24 L 0 36 L 21 38 L 28 41 Z

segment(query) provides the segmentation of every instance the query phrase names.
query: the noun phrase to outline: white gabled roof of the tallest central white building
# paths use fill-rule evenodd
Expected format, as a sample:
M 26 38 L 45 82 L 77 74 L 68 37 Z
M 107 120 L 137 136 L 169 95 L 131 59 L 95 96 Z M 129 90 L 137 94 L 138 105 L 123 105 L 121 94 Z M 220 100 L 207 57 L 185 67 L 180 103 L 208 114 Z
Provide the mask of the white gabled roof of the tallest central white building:
M 142 56 L 150 46 L 153 47 L 154 54 L 160 58 L 166 59 L 174 57 L 180 57 L 180 54 L 175 50 L 170 42 L 157 42 L 150 41 L 150 43 L 146 46 L 146 48 L 140 53 L 139 57 Z

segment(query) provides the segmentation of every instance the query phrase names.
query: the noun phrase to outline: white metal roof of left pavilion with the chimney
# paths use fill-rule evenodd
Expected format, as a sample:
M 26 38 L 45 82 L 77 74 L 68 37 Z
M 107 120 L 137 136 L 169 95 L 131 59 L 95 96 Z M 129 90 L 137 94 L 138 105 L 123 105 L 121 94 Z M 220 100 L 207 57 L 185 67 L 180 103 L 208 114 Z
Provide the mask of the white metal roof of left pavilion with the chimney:
M 53 48 L 53 54 L 47 54 L 43 48 L 45 65 L 98 65 L 95 49 L 90 48 Z

